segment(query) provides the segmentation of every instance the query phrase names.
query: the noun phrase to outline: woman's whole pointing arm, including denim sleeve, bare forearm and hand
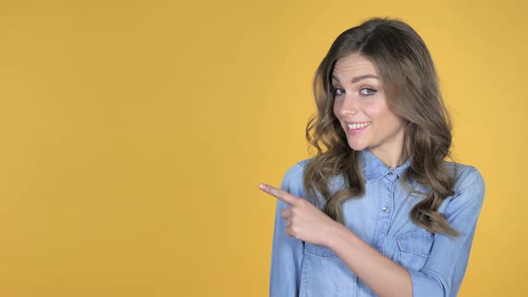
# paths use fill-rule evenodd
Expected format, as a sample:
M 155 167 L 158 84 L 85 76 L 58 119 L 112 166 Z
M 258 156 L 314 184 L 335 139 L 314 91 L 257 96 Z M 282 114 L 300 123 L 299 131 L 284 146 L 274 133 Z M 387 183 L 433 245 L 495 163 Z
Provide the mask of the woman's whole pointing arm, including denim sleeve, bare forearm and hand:
M 262 184 L 260 189 L 290 206 L 281 211 L 287 235 L 334 250 L 379 296 L 433 297 L 456 296 L 482 205 L 484 183 L 476 169 L 461 176 L 458 184 L 444 215 L 461 235 L 452 240 L 437 234 L 430 257 L 420 271 L 408 271 L 387 259 L 305 199 L 268 185 Z

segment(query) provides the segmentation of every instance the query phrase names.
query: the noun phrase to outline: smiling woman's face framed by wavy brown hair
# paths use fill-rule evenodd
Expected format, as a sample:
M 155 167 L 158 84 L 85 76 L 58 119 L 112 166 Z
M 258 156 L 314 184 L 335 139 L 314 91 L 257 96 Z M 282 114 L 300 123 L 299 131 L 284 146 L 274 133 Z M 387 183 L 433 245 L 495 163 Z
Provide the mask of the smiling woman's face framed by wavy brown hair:
M 399 158 L 404 145 L 404 123 L 388 109 L 374 64 L 358 54 L 337 60 L 332 86 L 334 115 L 345 130 L 350 148 L 370 148 L 382 160 Z

